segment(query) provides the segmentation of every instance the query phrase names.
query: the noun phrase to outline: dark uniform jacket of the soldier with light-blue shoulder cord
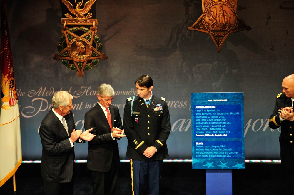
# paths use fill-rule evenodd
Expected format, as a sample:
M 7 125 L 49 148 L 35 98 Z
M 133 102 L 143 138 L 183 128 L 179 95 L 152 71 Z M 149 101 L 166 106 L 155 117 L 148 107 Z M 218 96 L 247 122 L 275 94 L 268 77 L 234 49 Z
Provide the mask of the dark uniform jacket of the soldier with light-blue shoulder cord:
M 166 140 L 171 131 L 168 106 L 164 98 L 153 95 L 149 108 L 144 100 L 135 97 L 131 116 L 132 98 L 126 100 L 123 112 L 123 128 L 128 138 L 126 157 L 134 160 L 152 161 L 168 157 Z M 143 155 L 147 147 L 158 150 L 151 158 Z

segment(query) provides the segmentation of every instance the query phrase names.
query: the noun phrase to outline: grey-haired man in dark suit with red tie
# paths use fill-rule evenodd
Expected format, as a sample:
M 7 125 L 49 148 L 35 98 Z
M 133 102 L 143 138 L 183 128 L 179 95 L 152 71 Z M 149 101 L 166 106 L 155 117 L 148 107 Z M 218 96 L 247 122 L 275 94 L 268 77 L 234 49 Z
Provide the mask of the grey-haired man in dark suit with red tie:
M 102 84 L 98 104 L 85 114 L 85 128 L 96 135 L 89 142 L 87 169 L 93 182 L 93 195 L 115 195 L 118 185 L 119 151 L 117 139 L 125 137 L 117 106 L 111 105 L 114 89 Z

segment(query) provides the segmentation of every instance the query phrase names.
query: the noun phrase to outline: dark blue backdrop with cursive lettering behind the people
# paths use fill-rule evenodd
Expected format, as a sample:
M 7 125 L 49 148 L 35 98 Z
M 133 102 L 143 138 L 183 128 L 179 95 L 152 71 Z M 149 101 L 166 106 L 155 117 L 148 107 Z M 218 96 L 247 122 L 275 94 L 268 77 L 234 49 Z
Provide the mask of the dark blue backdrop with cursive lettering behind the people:
M 202 14 L 201 1 L 188 14 L 178 0 L 97 1 L 97 35 L 108 60 L 82 78 L 53 60 L 64 17 L 59 1 L 7 2 L 23 159 L 41 158 L 38 129 L 55 91 L 74 95 L 74 118 L 84 129 L 100 84 L 113 86 L 113 104 L 123 116 L 142 74 L 152 77 L 153 93 L 169 106 L 169 158 L 192 158 L 191 92 L 244 92 L 245 159 L 280 159 L 280 132 L 268 127 L 268 117 L 283 78 L 293 74 L 294 10 L 283 2 L 239 0 L 237 14 L 252 30 L 230 34 L 218 53 L 208 33 L 187 30 Z M 124 159 L 127 139 L 118 144 Z M 75 147 L 76 159 L 86 159 L 88 144 Z

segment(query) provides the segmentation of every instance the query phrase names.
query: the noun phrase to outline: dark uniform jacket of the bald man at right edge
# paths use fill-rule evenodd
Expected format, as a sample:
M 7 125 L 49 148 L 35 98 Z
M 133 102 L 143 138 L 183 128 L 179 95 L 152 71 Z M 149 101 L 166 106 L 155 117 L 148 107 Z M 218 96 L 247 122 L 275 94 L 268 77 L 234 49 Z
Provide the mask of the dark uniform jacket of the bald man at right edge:
M 292 100 L 284 93 L 278 94 L 273 114 L 270 116 L 268 126 L 272 129 L 281 128 L 279 137 L 281 147 L 281 164 L 293 171 L 294 165 L 294 122 L 283 120 L 280 122 L 281 108 L 291 107 Z M 292 142 L 292 143 L 291 143 Z

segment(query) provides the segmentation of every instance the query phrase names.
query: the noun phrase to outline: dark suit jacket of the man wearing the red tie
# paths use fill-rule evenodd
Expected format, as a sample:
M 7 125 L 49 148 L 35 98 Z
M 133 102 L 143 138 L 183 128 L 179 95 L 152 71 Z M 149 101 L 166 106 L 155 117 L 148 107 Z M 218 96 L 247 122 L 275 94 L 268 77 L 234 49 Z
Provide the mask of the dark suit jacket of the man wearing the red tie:
M 110 105 L 112 127 L 123 129 L 121 116 L 117 106 Z M 114 157 L 119 168 L 119 151 L 116 139 L 111 138 L 111 128 L 101 106 L 97 104 L 85 114 L 85 129 L 93 128 L 96 135 L 89 141 L 87 169 L 91 171 L 107 172 Z

